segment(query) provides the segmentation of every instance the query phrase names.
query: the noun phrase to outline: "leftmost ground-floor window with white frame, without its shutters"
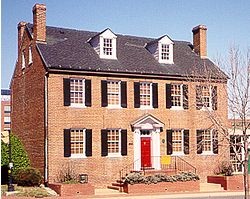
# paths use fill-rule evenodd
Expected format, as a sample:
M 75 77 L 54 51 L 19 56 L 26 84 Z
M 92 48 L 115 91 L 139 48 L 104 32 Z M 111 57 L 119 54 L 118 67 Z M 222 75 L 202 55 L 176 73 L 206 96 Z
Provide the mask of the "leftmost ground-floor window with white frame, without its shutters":
M 71 157 L 85 156 L 85 129 L 71 129 L 70 130 L 70 150 Z

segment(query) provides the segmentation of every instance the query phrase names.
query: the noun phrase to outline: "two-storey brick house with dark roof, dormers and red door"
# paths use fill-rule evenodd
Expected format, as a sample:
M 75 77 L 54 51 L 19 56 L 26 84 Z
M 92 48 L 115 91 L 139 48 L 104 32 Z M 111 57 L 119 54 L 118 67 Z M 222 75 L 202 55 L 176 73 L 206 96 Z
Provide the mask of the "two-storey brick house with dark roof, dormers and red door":
M 36 4 L 33 24 L 18 24 L 11 125 L 45 182 L 70 164 L 102 187 L 125 167 L 161 170 L 166 155 L 205 180 L 229 158 L 207 117 L 227 122 L 227 77 L 207 57 L 206 30 L 191 44 L 50 27 Z

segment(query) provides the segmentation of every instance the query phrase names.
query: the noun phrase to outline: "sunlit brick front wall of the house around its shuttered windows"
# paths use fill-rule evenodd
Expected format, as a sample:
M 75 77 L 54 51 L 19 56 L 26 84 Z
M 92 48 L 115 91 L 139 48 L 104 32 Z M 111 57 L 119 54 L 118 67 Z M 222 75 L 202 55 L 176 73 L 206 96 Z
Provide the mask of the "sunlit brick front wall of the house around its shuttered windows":
M 133 132 L 131 122 L 149 113 L 162 121 L 165 126 L 161 132 L 161 155 L 166 155 L 166 129 L 186 128 L 190 130 L 190 154 L 185 155 L 187 162 L 197 168 L 202 181 L 206 181 L 208 174 L 213 174 L 220 161 L 228 157 L 228 150 L 219 146 L 219 155 L 197 155 L 196 130 L 210 128 L 212 123 L 206 111 L 196 110 L 195 86 L 189 84 L 189 109 L 174 111 L 165 108 L 166 80 L 152 80 L 158 83 L 159 108 L 142 110 L 134 108 L 134 81 L 145 79 L 114 78 L 127 81 L 128 107 L 125 109 L 109 109 L 101 107 L 101 80 L 106 77 L 81 76 L 92 81 L 92 107 L 72 108 L 63 106 L 63 78 L 79 77 L 70 75 L 50 74 L 48 79 L 48 132 L 49 132 L 49 181 L 56 181 L 62 165 L 74 165 L 78 173 L 87 173 L 89 181 L 96 186 L 103 186 L 119 178 L 119 171 L 134 161 Z M 173 82 L 173 81 L 172 81 Z M 224 84 L 218 86 L 218 110 L 224 123 L 227 122 L 227 100 Z M 88 158 L 65 158 L 63 154 L 63 129 L 65 128 L 90 128 L 92 129 L 93 155 Z M 122 128 L 128 130 L 128 156 L 120 158 L 101 157 L 101 129 Z

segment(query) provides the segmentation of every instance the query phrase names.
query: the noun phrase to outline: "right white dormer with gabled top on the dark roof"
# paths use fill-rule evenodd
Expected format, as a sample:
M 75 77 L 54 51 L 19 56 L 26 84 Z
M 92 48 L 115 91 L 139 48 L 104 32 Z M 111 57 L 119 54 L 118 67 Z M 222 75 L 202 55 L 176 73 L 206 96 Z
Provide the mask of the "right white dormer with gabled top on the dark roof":
M 149 42 L 146 48 L 159 63 L 173 64 L 173 45 L 174 42 L 167 35 L 164 35 Z

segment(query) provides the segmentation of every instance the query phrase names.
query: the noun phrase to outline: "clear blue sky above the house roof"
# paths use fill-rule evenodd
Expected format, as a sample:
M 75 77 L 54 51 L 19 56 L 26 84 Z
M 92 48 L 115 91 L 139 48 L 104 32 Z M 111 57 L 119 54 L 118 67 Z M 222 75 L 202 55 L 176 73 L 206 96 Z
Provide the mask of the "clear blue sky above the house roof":
M 48 26 L 192 42 L 192 28 L 207 26 L 208 57 L 224 57 L 233 44 L 250 48 L 249 0 L 1 0 L 1 88 L 9 88 L 17 59 L 17 24 L 32 23 L 44 3 Z

